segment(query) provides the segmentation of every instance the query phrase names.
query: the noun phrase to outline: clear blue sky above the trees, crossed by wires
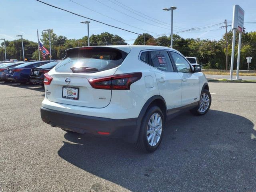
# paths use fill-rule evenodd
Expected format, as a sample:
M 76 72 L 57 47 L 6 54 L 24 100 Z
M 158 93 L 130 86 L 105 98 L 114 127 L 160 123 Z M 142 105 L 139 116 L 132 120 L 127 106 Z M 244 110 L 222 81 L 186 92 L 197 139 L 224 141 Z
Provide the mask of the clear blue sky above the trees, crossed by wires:
M 147 32 L 156 38 L 161 34 L 170 34 L 171 12 L 162 8 L 171 6 L 177 7 L 174 10 L 174 34 L 178 32 L 177 34 L 183 38 L 219 40 L 225 33 L 225 29 L 220 26 L 224 25 L 225 19 L 232 20 L 234 4 L 244 9 L 244 22 L 256 22 L 256 0 L 42 1 L 138 34 Z M 0 38 L 6 40 L 14 40 L 18 38 L 16 35 L 23 35 L 23 38 L 37 42 L 36 30 L 38 29 L 40 34 L 42 30 L 49 28 L 57 35 L 69 39 L 78 39 L 87 35 L 87 24 L 80 22 L 88 19 L 52 8 L 36 0 L 0 0 L 0 7 Z M 220 24 L 221 22 L 223 24 Z M 212 26 L 215 24 L 216 26 Z M 95 21 L 91 21 L 89 26 L 90 35 L 109 32 L 121 36 L 128 44 L 133 44 L 138 36 Z M 212 27 L 181 32 L 205 26 Z M 256 31 L 256 24 L 244 24 L 244 26 L 248 32 Z M 231 27 L 228 27 L 228 30 L 230 29 Z

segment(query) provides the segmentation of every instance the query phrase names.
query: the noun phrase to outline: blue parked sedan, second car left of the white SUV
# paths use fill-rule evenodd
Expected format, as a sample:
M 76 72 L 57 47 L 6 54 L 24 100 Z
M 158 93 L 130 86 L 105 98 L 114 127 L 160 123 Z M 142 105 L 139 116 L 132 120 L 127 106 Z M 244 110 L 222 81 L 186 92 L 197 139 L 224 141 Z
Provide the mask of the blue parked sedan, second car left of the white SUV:
M 8 81 L 26 84 L 29 82 L 31 68 L 36 68 L 49 62 L 50 61 L 35 61 L 24 63 L 16 67 L 8 67 L 6 79 Z

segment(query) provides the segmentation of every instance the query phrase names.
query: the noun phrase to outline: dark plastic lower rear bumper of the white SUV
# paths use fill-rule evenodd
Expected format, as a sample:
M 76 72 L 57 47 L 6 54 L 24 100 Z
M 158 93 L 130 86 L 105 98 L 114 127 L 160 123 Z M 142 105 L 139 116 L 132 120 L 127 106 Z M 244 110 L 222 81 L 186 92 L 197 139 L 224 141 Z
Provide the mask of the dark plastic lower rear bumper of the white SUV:
M 130 119 L 110 119 L 94 116 L 85 116 L 60 112 L 41 107 L 41 118 L 47 124 L 64 128 L 81 134 L 98 135 L 98 132 L 109 132 L 104 137 L 123 138 L 124 140 L 135 143 L 138 138 L 137 126 L 138 118 Z

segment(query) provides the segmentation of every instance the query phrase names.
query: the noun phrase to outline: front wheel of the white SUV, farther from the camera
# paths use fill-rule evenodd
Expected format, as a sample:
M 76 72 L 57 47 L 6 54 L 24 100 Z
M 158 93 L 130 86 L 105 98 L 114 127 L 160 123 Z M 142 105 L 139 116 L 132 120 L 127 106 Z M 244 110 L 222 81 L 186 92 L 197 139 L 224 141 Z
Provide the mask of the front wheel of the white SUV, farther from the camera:
M 204 100 L 204 102 L 203 102 L 203 100 Z M 190 112 L 194 115 L 204 115 L 210 109 L 211 103 L 212 103 L 212 96 L 207 89 L 204 89 L 201 92 L 198 106 L 196 108 L 190 110 Z M 206 108 L 206 106 L 207 106 L 207 108 Z

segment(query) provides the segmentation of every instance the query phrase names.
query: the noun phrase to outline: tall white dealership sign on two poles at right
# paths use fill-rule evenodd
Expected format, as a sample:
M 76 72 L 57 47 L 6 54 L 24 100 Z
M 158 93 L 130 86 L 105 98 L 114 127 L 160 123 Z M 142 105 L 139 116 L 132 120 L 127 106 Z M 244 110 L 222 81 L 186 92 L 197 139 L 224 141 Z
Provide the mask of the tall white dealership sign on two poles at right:
M 230 65 L 230 80 L 233 79 L 236 32 L 239 32 L 236 79 L 239 78 L 240 49 L 241 49 L 241 38 L 242 38 L 243 29 L 244 29 L 244 10 L 239 5 L 234 5 L 233 22 L 232 22 L 233 41 L 232 41 L 232 53 L 231 53 L 231 65 Z

